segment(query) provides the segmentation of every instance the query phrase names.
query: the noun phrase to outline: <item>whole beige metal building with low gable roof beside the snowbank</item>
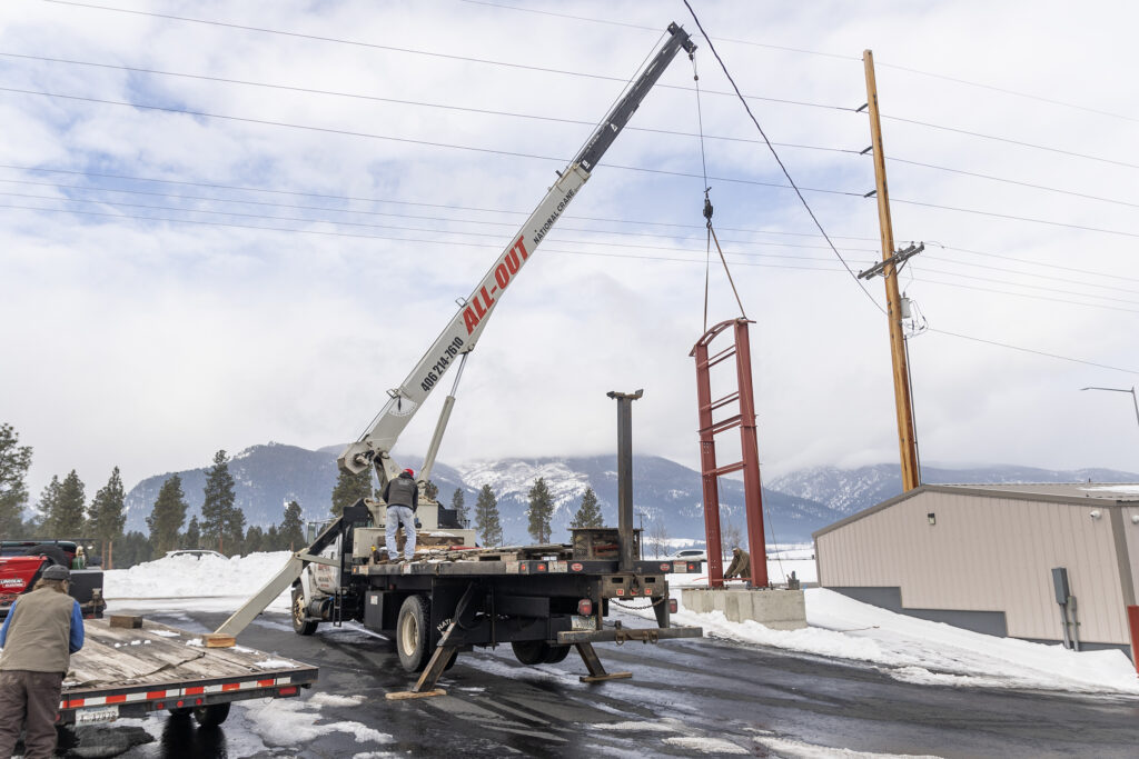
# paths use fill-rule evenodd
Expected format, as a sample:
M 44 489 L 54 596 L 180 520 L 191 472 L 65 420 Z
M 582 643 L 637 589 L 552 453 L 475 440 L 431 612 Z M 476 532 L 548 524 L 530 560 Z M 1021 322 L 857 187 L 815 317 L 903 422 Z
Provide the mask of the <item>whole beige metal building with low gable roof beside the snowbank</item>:
M 813 537 L 822 587 L 990 635 L 1121 649 L 1137 661 L 1139 486 L 923 485 Z

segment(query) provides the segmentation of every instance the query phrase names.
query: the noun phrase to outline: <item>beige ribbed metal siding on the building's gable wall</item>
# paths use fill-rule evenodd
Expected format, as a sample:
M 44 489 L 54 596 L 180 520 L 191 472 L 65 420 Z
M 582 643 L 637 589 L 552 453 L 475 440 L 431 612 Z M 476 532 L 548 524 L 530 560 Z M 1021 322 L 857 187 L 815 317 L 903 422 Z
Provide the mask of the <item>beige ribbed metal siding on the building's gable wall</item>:
M 820 535 L 819 581 L 898 586 L 909 609 L 1003 611 L 1009 635 L 1059 640 L 1051 569 L 1066 567 L 1081 640 L 1125 643 L 1111 508 L 920 493 Z M 1103 517 L 1091 519 L 1097 509 Z M 1139 508 L 1126 512 L 1124 523 L 1139 587 L 1139 525 L 1131 523 L 1131 513 Z

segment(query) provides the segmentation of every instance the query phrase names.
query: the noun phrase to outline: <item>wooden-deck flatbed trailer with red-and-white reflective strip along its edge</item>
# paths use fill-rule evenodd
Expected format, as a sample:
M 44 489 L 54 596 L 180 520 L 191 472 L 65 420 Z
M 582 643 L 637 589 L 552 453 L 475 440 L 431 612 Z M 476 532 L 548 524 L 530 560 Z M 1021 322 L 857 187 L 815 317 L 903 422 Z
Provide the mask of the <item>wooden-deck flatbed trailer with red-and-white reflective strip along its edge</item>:
M 107 723 L 167 710 L 220 725 L 230 703 L 289 698 L 311 687 L 318 669 L 245 646 L 207 647 L 202 634 L 149 620 L 112 627 L 83 624 L 83 649 L 64 678 L 58 725 Z

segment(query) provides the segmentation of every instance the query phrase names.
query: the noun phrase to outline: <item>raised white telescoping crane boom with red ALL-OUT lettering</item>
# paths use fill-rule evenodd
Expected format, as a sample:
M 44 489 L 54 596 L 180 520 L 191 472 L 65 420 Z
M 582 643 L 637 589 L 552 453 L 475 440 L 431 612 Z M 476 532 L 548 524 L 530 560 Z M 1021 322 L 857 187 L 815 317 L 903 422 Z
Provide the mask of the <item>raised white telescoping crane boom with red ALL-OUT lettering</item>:
M 400 468 L 388 454 L 403 428 L 411 421 L 411 418 L 440 383 L 446 371 L 457 362 L 465 360 L 467 354 L 474 349 L 494 311 L 494 306 L 506 289 L 518 277 L 522 267 L 534 255 L 547 233 L 565 213 L 570 201 L 581 191 L 601 156 L 613 145 L 621 130 L 640 106 L 641 100 L 645 99 L 645 96 L 648 94 L 648 91 L 656 84 L 661 74 L 681 49 L 691 53 L 696 50 L 696 46 L 685 30 L 677 24 L 670 24 L 669 39 L 661 47 L 661 50 L 632 83 L 624 97 L 613 106 L 565 171 L 558 172 L 558 181 L 554 183 L 542 201 L 523 223 L 522 229 L 510 239 L 506 249 L 499 255 L 470 296 L 460 302 L 459 312 L 435 339 L 427 353 L 403 380 L 403 383 L 388 390 L 388 401 L 368 431 L 359 440 L 350 444 L 341 454 L 338 462 L 342 469 L 359 473 L 369 464 L 374 464 L 379 473 L 380 486 L 388 479 L 399 476 Z M 433 461 L 439 437 L 442 435 L 446 416 L 450 414 L 451 403 L 453 403 L 453 398 L 448 398 L 448 405 L 440 419 L 425 469 L 429 468 Z M 420 480 L 425 477 L 426 472 L 421 472 Z

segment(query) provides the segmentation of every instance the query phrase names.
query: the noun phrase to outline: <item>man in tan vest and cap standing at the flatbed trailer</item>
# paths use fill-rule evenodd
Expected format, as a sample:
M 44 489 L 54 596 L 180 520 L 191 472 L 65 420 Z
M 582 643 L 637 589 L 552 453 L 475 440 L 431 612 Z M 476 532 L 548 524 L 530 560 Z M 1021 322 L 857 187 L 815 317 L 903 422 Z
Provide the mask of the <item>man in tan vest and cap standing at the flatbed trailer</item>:
M 67 595 L 71 572 L 51 566 L 8 610 L 0 627 L 0 757 L 24 727 L 25 759 L 56 752 L 56 715 L 71 654 L 83 647 L 83 613 Z M 26 715 L 26 720 L 25 720 Z

